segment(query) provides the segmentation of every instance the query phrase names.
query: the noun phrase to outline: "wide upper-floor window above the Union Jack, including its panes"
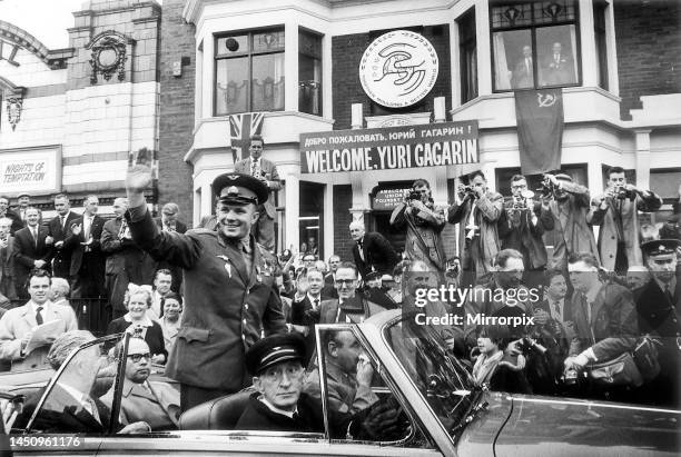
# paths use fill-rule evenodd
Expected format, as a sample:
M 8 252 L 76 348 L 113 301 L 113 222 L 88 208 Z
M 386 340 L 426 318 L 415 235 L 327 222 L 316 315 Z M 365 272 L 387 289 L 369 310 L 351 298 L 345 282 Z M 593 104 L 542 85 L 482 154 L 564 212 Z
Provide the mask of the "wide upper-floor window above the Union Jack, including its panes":
M 216 38 L 215 115 L 284 109 L 284 29 Z

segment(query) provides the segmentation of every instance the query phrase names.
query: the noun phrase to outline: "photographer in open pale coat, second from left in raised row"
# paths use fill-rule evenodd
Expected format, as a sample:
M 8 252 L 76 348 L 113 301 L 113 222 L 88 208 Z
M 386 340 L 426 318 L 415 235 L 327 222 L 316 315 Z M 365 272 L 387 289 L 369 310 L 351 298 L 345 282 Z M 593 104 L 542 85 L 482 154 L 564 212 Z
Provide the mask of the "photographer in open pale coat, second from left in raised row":
M 450 223 L 460 223 L 458 255 L 463 268 L 462 284 L 471 286 L 492 269 L 492 260 L 501 249 L 496 222 L 504 210 L 501 193 L 487 189 L 482 171 L 470 178 L 471 186 L 460 186 L 461 202 L 448 210 Z

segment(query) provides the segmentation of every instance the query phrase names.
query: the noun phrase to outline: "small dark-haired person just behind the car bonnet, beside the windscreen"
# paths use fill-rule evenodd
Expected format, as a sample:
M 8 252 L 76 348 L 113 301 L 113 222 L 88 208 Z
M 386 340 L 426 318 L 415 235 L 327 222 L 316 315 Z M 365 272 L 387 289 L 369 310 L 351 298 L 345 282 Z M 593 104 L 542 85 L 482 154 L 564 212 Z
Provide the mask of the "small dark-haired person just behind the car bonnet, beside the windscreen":
M 505 325 L 485 326 L 477 337 L 480 356 L 473 366 L 476 386 L 487 385 L 490 390 L 531 394 L 532 389 L 522 369 L 522 355 L 506 354 L 511 332 Z

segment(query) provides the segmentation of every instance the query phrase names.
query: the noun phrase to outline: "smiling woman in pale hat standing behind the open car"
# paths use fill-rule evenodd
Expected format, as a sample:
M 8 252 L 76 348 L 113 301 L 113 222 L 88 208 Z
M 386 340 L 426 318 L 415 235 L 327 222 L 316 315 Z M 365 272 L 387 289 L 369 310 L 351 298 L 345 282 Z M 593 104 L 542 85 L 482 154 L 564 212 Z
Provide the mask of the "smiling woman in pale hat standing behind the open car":
M 147 341 L 151 354 L 151 362 L 165 364 L 168 351 L 164 344 L 164 331 L 158 322 L 152 321 L 147 315 L 151 307 L 151 290 L 144 286 L 128 285 L 124 298 L 124 305 L 128 312 L 118 319 L 111 320 L 107 328 L 107 335 L 129 331 L 139 334 Z

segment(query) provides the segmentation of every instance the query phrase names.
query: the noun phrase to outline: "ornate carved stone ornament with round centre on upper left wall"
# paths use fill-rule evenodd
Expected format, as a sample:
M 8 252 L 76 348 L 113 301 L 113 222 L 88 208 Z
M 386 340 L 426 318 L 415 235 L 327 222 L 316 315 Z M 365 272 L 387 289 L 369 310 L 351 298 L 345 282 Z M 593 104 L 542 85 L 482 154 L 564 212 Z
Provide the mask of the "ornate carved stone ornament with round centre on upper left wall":
M 90 83 L 97 83 L 98 73 L 101 73 L 107 81 L 116 72 L 118 72 L 119 81 L 126 79 L 126 61 L 128 60 L 126 50 L 128 41 L 124 36 L 112 30 L 101 32 L 92 39 L 86 47 L 86 49 L 91 49 L 92 51 L 92 58 L 90 59 L 90 66 L 92 67 Z

